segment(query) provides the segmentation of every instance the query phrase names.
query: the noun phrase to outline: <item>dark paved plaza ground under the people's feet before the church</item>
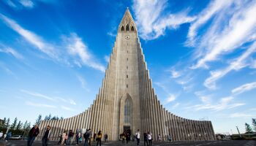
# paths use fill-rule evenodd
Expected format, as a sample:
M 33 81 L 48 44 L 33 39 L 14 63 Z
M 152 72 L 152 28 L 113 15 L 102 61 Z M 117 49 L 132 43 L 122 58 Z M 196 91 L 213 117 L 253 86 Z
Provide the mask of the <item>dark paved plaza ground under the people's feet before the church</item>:
M 58 142 L 56 141 L 51 141 L 49 142 L 49 145 L 56 145 Z M 7 146 L 7 145 L 10 145 L 10 146 L 25 146 L 26 145 L 26 141 L 23 141 L 23 140 L 13 140 L 13 141 L 9 141 L 9 142 L 4 142 L 4 141 L 0 141 L 0 146 Z M 33 144 L 34 146 L 41 146 L 42 143 L 41 142 L 34 142 Z M 75 144 L 73 144 L 75 145 Z M 96 143 L 93 143 L 92 145 L 96 145 Z M 107 145 L 110 145 L 110 146 L 128 146 L 128 145 L 136 145 L 136 142 L 129 142 L 129 144 L 122 144 L 120 141 L 118 142 L 102 142 L 102 146 L 107 146 Z M 140 145 L 144 145 L 143 142 L 140 142 Z M 255 146 L 256 145 L 256 141 L 245 141 L 245 140 L 241 140 L 241 141 L 234 141 L 234 140 L 230 140 L 230 141 L 211 141 L 211 142 L 153 142 L 152 145 L 184 145 L 184 146 L 187 146 L 187 145 L 191 145 L 191 146 L 211 146 L 211 145 L 216 145 L 216 146 Z M 83 143 L 80 144 L 80 146 L 83 146 Z

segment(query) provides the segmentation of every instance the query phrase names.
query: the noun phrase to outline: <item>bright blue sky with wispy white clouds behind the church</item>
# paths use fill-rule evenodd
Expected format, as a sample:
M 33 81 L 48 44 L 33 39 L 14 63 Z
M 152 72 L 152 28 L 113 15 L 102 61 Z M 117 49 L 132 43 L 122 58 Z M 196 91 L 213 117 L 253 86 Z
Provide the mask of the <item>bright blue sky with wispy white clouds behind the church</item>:
M 244 132 L 256 118 L 256 1 L 0 2 L 0 118 L 68 118 L 95 99 L 129 7 L 164 107 Z

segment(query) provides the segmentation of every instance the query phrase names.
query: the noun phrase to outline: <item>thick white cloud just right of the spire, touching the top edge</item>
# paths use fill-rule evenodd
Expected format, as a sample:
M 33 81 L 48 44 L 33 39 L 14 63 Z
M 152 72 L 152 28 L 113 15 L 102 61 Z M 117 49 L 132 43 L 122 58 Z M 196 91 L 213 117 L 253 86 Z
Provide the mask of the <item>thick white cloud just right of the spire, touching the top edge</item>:
M 133 1 L 132 8 L 135 11 L 140 37 L 148 40 L 157 39 L 165 34 L 167 28 L 175 29 L 195 19 L 187 16 L 187 12 L 168 14 L 164 12 L 166 5 L 165 0 Z

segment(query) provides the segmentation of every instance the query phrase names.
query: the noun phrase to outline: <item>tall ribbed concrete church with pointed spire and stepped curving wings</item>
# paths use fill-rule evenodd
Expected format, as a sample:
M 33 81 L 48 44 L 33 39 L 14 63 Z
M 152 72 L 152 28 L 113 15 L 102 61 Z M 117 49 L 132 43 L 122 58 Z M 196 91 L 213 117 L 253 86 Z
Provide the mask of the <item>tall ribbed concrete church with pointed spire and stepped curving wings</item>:
M 102 80 L 102 88 L 93 104 L 86 111 L 64 120 L 42 120 L 39 125 L 41 139 L 46 126 L 51 126 L 51 139 L 59 139 L 63 131 L 91 128 L 101 130 L 110 140 L 118 140 L 119 134 L 130 129 L 151 131 L 156 140 L 160 134 L 173 141 L 214 140 L 211 121 L 189 120 L 165 110 L 157 99 L 143 49 L 140 45 L 135 21 L 129 9 L 118 27 L 116 42 L 110 62 Z

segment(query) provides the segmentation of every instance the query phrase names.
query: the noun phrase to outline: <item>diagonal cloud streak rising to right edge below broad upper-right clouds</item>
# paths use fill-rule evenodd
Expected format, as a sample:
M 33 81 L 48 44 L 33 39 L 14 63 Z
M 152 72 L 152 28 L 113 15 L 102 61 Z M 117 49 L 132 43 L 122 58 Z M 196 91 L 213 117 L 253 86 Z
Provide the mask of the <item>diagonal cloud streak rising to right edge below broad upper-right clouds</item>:
M 229 66 L 227 66 L 225 69 L 219 69 L 214 72 L 210 72 L 211 76 L 208 77 L 203 85 L 206 86 L 206 88 L 209 89 L 216 89 L 216 81 L 219 80 L 220 78 L 224 77 L 227 73 L 235 70 L 238 71 L 239 69 L 242 69 L 246 65 L 245 61 L 248 59 L 249 55 L 254 53 L 256 50 L 256 42 L 254 42 L 241 56 L 236 58 L 234 61 L 230 63 Z

